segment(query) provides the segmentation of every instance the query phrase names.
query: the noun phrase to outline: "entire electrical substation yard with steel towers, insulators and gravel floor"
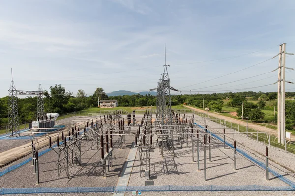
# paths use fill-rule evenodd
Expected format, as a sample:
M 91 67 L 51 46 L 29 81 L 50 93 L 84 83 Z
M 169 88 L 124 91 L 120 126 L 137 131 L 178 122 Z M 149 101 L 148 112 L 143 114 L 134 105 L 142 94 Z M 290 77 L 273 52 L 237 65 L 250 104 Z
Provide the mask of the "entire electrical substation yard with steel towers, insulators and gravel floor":
M 10 132 L 0 136 L 0 194 L 255 190 L 294 194 L 294 154 L 269 147 L 267 133 L 265 142 L 256 141 L 248 135 L 258 133 L 238 132 L 225 126 L 223 119 L 173 110 L 170 91 L 177 89 L 170 86 L 167 67 L 157 84 L 156 110 L 106 110 L 46 127 L 31 126 L 24 132 L 16 123 L 13 96 L 25 91 L 11 88 Z M 37 94 L 38 120 L 53 121 L 42 109 L 42 91 Z

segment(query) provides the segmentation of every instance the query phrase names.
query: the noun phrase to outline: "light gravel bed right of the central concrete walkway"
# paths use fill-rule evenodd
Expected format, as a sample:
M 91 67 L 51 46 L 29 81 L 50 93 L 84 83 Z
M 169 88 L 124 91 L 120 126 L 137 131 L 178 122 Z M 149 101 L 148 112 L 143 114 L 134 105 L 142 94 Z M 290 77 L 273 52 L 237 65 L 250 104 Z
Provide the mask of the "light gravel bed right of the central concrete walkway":
M 186 115 L 189 116 L 189 115 Z M 195 115 L 196 117 L 196 115 Z M 196 117 L 197 118 L 197 117 Z M 214 127 L 219 127 L 216 123 Z M 236 137 L 236 136 L 235 136 Z M 242 137 L 242 136 L 240 136 Z M 203 136 L 200 138 L 203 138 Z M 237 141 L 243 143 L 242 140 L 248 140 L 242 137 L 236 138 Z M 203 141 L 203 139 L 202 139 Z M 257 143 L 255 141 L 251 141 Z M 237 155 L 237 170 L 234 170 L 234 152 L 229 147 L 223 148 L 223 143 L 215 138 L 211 138 L 212 143 L 212 161 L 209 162 L 208 147 L 207 147 L 207 181 L 204 180 L 204 147 L 200 147 L 200 171 L 197 170 L 197 153 L 195 147 L 195 162 L 192 162 L 192 148 L 184 147 L 180 149 L 179 144 L 175 144 L 175 154 L 172 156 L 161 157 L 157 147 L 151 152 L 151 180 L 154 186 L 163 185 L 178 185 L 178 186 L 202 186 L 202 185 L 220 185 L 220 186 L 241 186 L 241 185 L 263 185 L 263 186 L 288 186 L 278 178 L 274 178 L 269 174 L 270 180 L 266 180 L 266 172 L 256 164 L 250 162 L 241 155 Z M 261 145 L 257 143 L 258 145 Z M 155 143 L 154 143 L 155 145 Z M 254 150 L 243 147 L 241 144 L 239 148 L 247 151 L 252 157 L 265 162 L 265 157 L 261 156 Z M 255 144 L 251 148 L 256 150 Z M 277 151 L 275 151 L 277 152 Z M 273 154 L 270 155 L 274 156 Z M 280 165 L 270 161 L 270 168 L 276 172 L 287 175 L 288 179 L 295 181 L 293 172 L 286 170 Z M 142 174 L 143 175 L 143 174 Z M 133 167 L 132 175 L 129 181 L 129 186 L 145 186 L 145 177 L 140 177 L 139 174 L 139 153 L 136 157 L 136 162 Z M 161 192 L 162 193 L 162 192 Z

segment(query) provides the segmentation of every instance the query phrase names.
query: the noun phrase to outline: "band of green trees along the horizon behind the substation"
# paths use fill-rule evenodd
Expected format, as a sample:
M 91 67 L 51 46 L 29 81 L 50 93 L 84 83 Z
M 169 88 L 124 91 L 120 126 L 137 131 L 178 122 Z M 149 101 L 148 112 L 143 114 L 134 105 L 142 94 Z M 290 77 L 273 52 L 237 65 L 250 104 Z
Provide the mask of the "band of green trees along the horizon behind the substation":
M 49 91 L 49 92 L 48 92 Z M 119 106 L 124 107 L 141 107 L 156 106 L 156 96 L 148 95 L 123 95 L 108 96 L 104 89 L 96 88 L 93 95 L 87 96 L 80 89 L 76 96 L 66 91 L 62 85 L 51 86 L 49 90 L 44 91 L 44 109 L 46 113 L 70 113 L 80 111 L 91 107 L 98 106 L 99 100 L 116 99 Z M 295 97 L 295 92 L 286 92 L 286 98 Z M 237 113 L 241 116 L 241 105 L 244 101 L 244 116 L 249 116 L 252 120 L 264 118 L 261 109 L 273 110 L 273 106 L 266 106 L 267 100 L 275 100 L 276 92 L 228 92 L 213 94 L 192 94 L 192 95 L 171 95 L 171 104 L 189 104 L 199 108 L 209 108 L 216 112 L 221 112 L 224 106 L 223 100 L 228 99 L 228 105 L 238 107 Z M 258 100 L 257 104 L 247 100 Z M 37 97 L 28 96 L 26 98 L 18 98 L 19 121 L 29 122 L 36 120 L 37 116 Z M 8 96 L 0 98 L 0 126 L 8 124 Z M 295 101 L 286 101 L 286 125 L 293 127 L 295 124 Z

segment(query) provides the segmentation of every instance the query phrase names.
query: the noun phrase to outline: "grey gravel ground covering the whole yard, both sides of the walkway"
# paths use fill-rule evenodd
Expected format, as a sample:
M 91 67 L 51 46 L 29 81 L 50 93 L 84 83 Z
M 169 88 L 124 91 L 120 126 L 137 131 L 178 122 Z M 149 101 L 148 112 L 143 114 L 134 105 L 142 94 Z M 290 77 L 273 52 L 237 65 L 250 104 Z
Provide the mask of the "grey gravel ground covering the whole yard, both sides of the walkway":
M 187 114 L 186 116 L 189 116 Z M 197 118 L 197 116 L 195 115 Z M 125 117 L 126 118 L 126 117 Z M 64 123 L 67 125 L 67 119 L 59 120 L 60 124 Z M 196 122 L 198 123 L 198 122 Z M 212 127 L 218 128 L 223 127 L 220 124 L 208 121 L 207 124 Z M 214 130 L 217 131 L 218 129 Z M 221 130 L 221 129 L 220 129 Z M 220 131 L 218 130 L 218 131 Z M 227 130 L 228 131 L 228 130 Z M 133 131 L 135 133 L 135 131 Z M 227 140 L 233 142 L 230 137 Z M 114 137 L 114 140 L 116 136 Z M 252 157 L 259 161 L 265 162 L 265 146 L 257 143 L 256 141 L 249 140 L 244 136 L 235 135 L 234 138 L 237 141 L 237 147 L 242 148 Z M 100 160 L 100 152 L 97 150 L 90 150 L 89 147 L 84 145 L 82 147 L 82 167 L 78 166 L 72 170 L 76 173 L 74 177 L 67 179 L 63 172 L 61 178 L 58 179 L 57 171 L 57 154 L 54 151 L 48 152 L 47 154 L 40 157 L 40 184 L 36 185 L 36 176 L 33 174 L 33 166 L 31 163 L 18 168 L 3 177 L 0 177 L 0 187 L 4 188 L 25 188 L 25 187 L 105 187 L 105 186 L 116 186 L 118 177 L 122 167 L 128 156 L 131 143 L 134 137 L 126 137 L 126 145 L 123 149 L 117 149 L 117 144 L 114 144 L 113 152 L 113 165 L 114 167 L 108 172 L 107 178 L 102 178 L 102 166 L 97 164 Z M 189 140 L 190 141 L 190 140 Z M 0 141 L 1 142 L 1 141 Z M 227 147 L 223 149 L 223 143 L 215 138 L 211 138 L 211 157 L 212 161 L 209 162 L 209 152 L 207 151 L 207 181 L 204 180 L 204 147 L 200 145 L 200 171 L 197 170 L 197 153 L 196 148 L 194 149 L 195 162 L 192 161 L 192 148 L 187 147 L 186 144 L 180 148 L 179 144 L 175 145 L 175 157 L 165 156 L 162 158 L 158 147 L 154 147 L 154 151 L 151 152 L 151 179 L 154 186 L 162 185 L 177 185 L 177 186 L 203 186 L 203 185 L 219 185 L 219 186 L 241 186 L 241 185 L 263 185 L 263 186 L 287 186 L 281 180 L 274 178 L 270 174 L 270 180 L 266 180 L 266 172 L 245 159 L 241 155 L 237 155 L 237 170 L 234 170 L 234 153 L 233 150 Z M 176 143 L 176 142 L 175 142 Z M 191 144 L 191 143 L 190 143 Z M 156 144 L 154 143 L 154 146 Z M 285 175 L 288 179 L 295 181 L 294 172 L 287 170 L 295 169 L 295 157 L 286 156 L 282 151 L 269 149 L 270 168 L 276 172 Z M 255 151 L 254 151 L 255 150 Z M 288 154 L 287 154 L 288 155 Z M 287 159 L 287 160 L 286 160 Z M 280 166 L 277 163 L 282 162 Z M 289 163 L 288 163 L 289 162 Z M 143 174 L 142 174 L 143 175 Z M 15 180 L 18 179 L 18 180 Z M 29 179 L 29 180 L 28 180 Z M 129 186 L 145 186 L 145 177 L 140 177 L 139 174 L 139 153 L 137 153 L 136 160 L 133 166 L 132 174 L 129 180 Z M 111 195 L 112 193 L 71 193 L 73 196 L 82 195 Z M 234 196 L 234 195 L 245 195 L 245 196 L 276 196 L 276 195 L 294 195 L 295 192 L 288 191 L 218 191 L 218 192 L 142 192 L 142 195 L 211 195 L 211 196 Z M 24 194 L 20 194 L 24 196 Z M 29 195 L 29 194 L 26 194 Z M 58 196 L 58 195 L 69 195 L 69 194 L 34 194 L 44 196 Z M 132 192 L 126 192 L 126 196 L 132 195 Z

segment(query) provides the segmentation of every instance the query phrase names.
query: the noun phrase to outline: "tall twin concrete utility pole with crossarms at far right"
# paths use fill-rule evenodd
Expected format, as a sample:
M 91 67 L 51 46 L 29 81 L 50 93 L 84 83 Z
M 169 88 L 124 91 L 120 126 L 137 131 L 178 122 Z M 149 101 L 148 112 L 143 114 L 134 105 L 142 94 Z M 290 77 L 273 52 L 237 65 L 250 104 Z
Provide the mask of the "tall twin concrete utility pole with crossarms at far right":
M 273 71 L 278 70 L 278 143 L 285 145 L 286 151 L 286 119 L 285 119 L 285 82 L 293 84 L 293 82 L 289 82 L 285 80 L 285 70 L 293 68 L 286 67 L 286 54 L 294 55 L 291 53 L 286 53 L 286 43 L 280 45 L 280 52 L 273 58 L 279 56 L 279 67 Z

